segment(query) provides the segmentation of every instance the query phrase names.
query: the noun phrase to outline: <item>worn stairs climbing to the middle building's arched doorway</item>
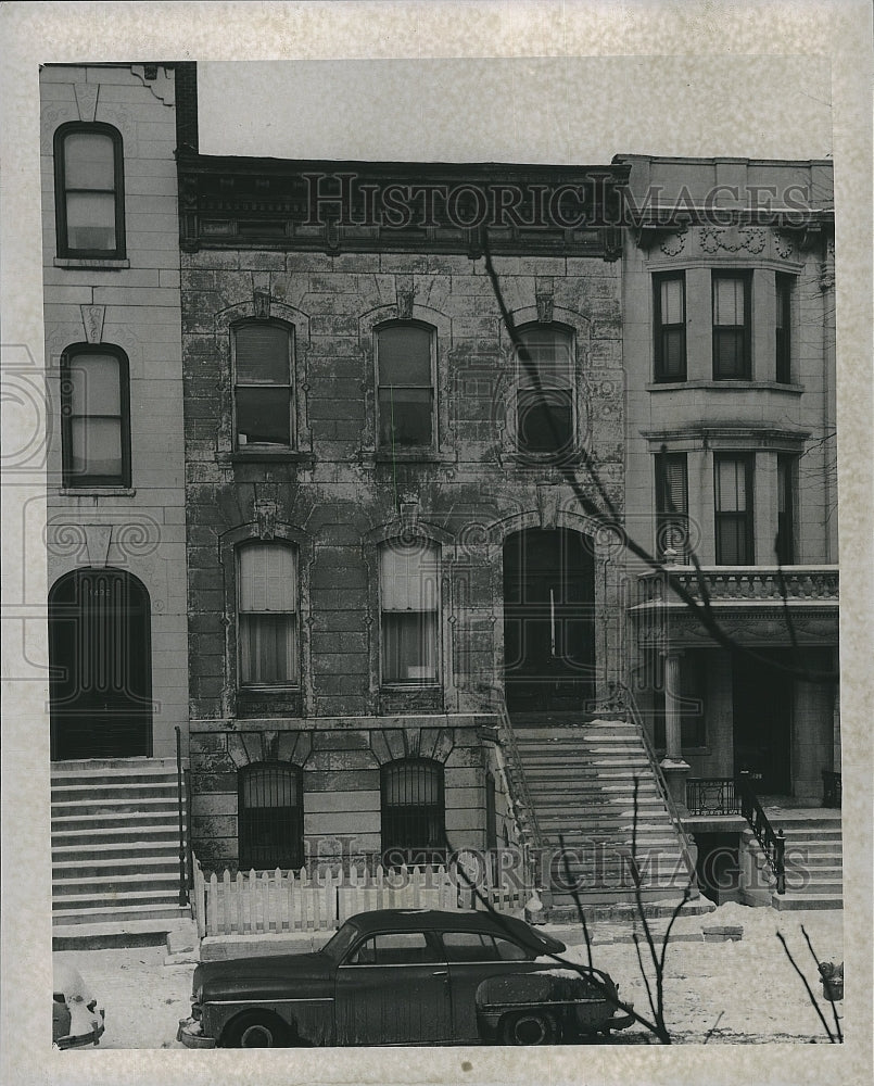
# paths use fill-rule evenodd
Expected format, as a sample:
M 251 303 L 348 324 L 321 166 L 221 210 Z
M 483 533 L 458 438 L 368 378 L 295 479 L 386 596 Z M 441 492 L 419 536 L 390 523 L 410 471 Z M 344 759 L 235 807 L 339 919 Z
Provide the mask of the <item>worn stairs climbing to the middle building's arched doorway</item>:
M 634 911 L 629 870 L 637 779 L 636 859 L 648 914 L 670 913 L 688 885 L 683 845 L 633 721 L 550 721 L 511 718 L 531 803 L 545 838 L 543 885 L 549 914 L 577 915 L 574 891 L 587 915 Z M 687 912 L 709 911 L 697 886 Z

